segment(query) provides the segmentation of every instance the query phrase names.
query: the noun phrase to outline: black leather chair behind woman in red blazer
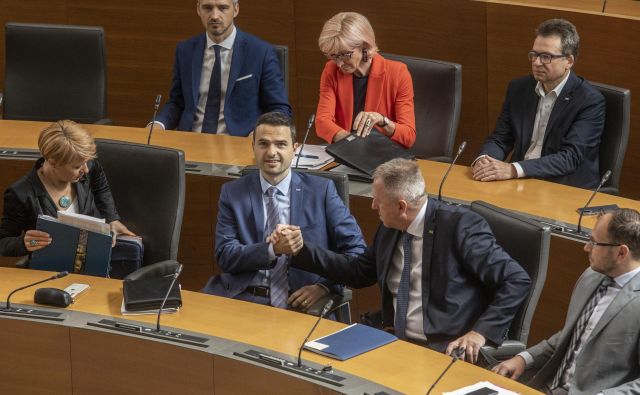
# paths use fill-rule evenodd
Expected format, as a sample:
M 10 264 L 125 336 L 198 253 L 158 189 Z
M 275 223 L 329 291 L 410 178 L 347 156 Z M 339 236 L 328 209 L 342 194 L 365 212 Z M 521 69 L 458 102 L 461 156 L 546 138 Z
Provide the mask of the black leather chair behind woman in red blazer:
M 451 161 L 460 120 L 462 66 L 440 60 L 383 53 L 407 65 L 413 79 L 416 142 L 421 159 Z

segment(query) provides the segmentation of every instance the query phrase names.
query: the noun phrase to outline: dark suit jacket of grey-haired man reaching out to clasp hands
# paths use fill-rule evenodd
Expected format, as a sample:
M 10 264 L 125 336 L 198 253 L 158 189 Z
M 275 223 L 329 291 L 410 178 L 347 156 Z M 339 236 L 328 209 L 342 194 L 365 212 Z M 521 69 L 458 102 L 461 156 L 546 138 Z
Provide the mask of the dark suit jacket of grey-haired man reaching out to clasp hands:
M 469 330 L 501 344 L 529 291 L 529 276 L 496 244 L 489 225 L 476 213 L 429 199 L 424 226 L 422 306 L 430 347 L 442 351 Z M 393 326 L 387 277 L 401 234 L 381 224 L 373 246 L 360 256 L 332 253 L 305 239 L 292 266 L 355 288 L 377 282 L 383 325 Z

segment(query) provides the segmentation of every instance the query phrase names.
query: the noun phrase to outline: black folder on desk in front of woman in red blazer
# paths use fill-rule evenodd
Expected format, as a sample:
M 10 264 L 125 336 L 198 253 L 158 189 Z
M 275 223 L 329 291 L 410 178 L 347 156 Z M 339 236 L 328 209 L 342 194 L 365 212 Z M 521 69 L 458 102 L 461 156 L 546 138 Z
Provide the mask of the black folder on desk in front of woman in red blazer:
M 379 165 L 395 158 L 415 159 L 408 149 L 373 130 L 366 138 L 355 134 L 329 145 L 327 153 L 342 163 L 369 176 Z

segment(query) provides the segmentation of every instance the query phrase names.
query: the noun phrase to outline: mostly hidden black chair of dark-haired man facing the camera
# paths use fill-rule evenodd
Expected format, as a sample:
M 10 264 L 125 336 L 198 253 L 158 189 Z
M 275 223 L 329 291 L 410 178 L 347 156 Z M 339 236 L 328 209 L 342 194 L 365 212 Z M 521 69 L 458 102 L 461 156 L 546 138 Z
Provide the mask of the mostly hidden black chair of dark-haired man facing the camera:
M 247 166 L 242 169 L 242 175 L 244 176 L 250 173 L 255 173 L 257 171 L 258 168 L 256 166 Z M 349 178 L 346 174 L 307 169 L 294 169 L 294 171 L 298 173 L 305 173 L 318 177 L 328 178 L 333 181 L 338 196 L 340 196 L 340 198 L 344 202 L 344 205 L 349 208 Z M 330 312 L 335 314 L 336 320 L 344 322 L 345 324 L 351 324 L 351 310 L 349 308 L 349 302 L 351 301 L 351 299 L 353 299 L 353 291 L 351 291 L 351 289 L 347 287 L 344 287 L 342 295 L 330 293 L 324 298 L 320 298 L 315 304 L 309 307 L 307 313 L 316 316 L 320 315 L 322 308 L 329 301 L 329 299 L 333 299 L 333 308 Z

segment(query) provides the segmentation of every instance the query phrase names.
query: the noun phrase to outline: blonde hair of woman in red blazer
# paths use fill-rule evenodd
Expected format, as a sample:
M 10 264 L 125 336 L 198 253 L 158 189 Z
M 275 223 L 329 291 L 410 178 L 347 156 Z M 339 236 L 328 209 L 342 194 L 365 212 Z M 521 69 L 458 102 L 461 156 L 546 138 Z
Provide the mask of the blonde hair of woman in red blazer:
M 369 20 L 357 12 L 341 12 L 324 23 L 318 46 L 325 54 L 334 54 L 344 48 L 362 48 L 378 52 L 376 35 Z

